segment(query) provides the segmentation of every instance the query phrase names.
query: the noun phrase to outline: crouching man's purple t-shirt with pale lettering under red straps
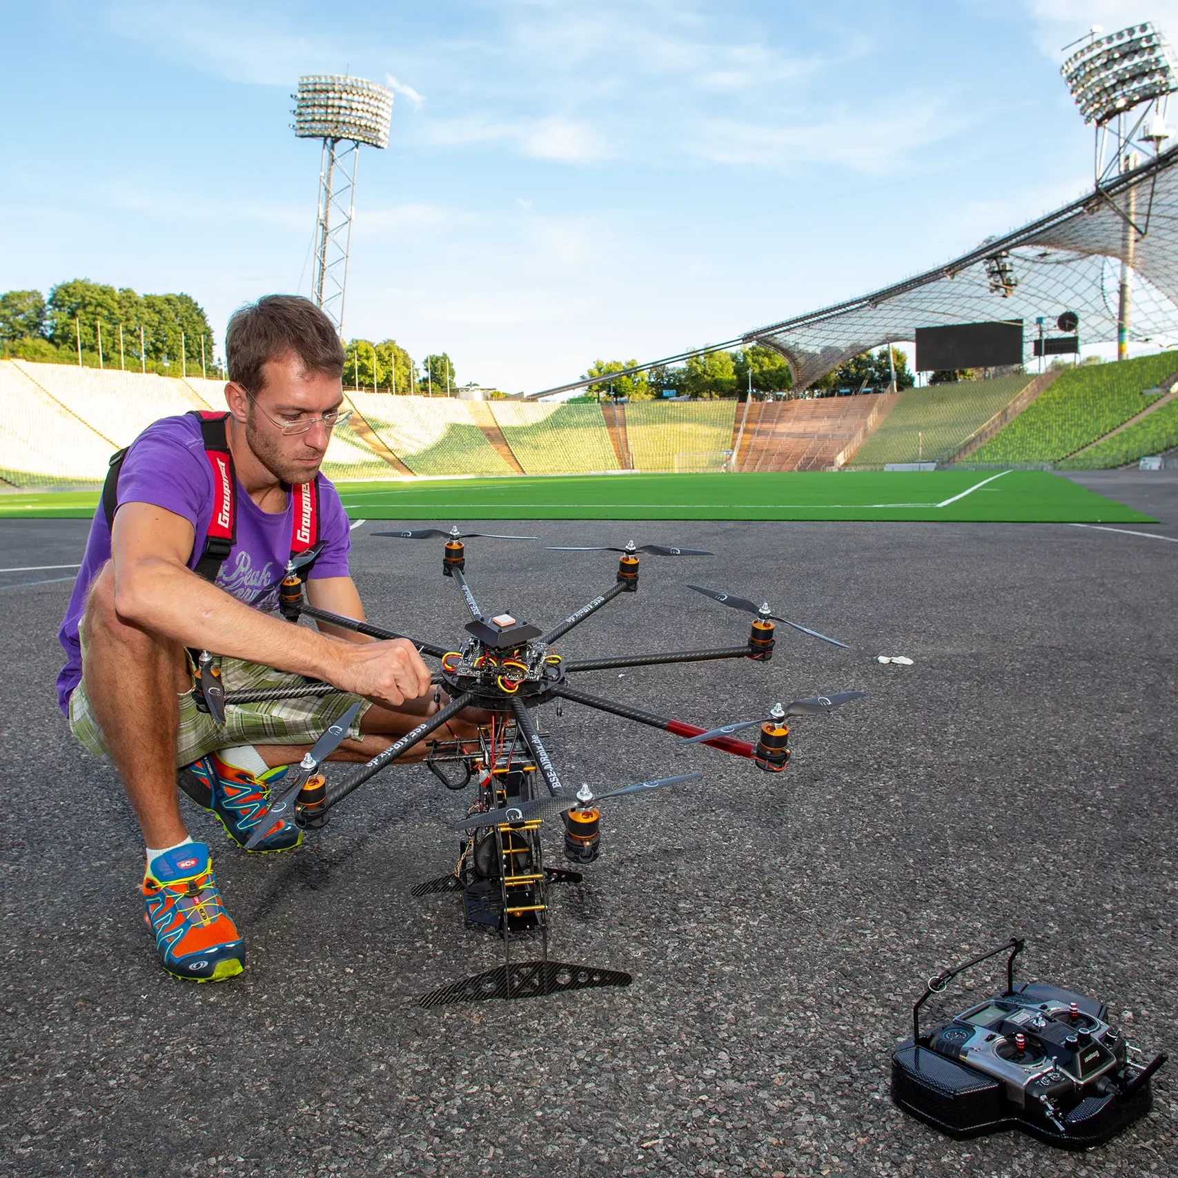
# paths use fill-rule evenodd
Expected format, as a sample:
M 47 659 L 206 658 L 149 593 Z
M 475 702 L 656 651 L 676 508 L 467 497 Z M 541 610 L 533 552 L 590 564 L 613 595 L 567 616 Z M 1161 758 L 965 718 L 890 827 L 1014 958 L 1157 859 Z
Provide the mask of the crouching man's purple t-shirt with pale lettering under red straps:
M 285 511 L 272 515 L 263 511 L 245 494 L 240 483 L 236 492 L 237 543 L 217 574 L 217 584 L 240 601 L 253 603 L 258 590 L 274 582 L 290 558 L 293 496 L 287 495 Z M 164 417 L 135 438 L 119 471 L 118 501 L 120 507 L 124 503 L 152 503 L 184 516 L 197 530 L 188 561 L 190 568 L 196 565 L 204 551 L 213 512 L 212 466 L 205 457 L 200 422 L 196 417 L 188 413 Z M 324 547 L 311 575 L 346 577 L 351 548 L 348 516 L 335 487 L 323 476 L 319 477 L 319 538 Z M 81 681 L 78 626 L 86 611 L 86 594 L 99 569 L 110 558 L 111 530 L 100 503 L 90 528 L 86 555 L 70 596 L 70 607 L 58 630 L 58 641 L 66 651 L 66 664 L 58 675 L 58 703 L 66 715 L 70 714 L 70 694 Z M 274 609 L 277 594 L 256 604 Z

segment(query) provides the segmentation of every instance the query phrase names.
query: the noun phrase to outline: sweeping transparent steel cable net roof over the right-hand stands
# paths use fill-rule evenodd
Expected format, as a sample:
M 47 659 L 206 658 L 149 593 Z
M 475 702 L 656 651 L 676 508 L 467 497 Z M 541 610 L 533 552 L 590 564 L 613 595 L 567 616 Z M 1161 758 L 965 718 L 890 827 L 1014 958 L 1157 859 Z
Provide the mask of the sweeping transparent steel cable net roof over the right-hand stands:
M 1132 225 L 1132 229 L 1130 227 Z M 916 327 L 1023 319 L 1024 359 L 1064 311 L 1085 344 L 1117 338 L 1120 262 L 1132 252 L 1130 338 L 1178 338 L 1178 147 L 1030 225 L 885 290 L 744 336 L 781 352 L 805 389 Z

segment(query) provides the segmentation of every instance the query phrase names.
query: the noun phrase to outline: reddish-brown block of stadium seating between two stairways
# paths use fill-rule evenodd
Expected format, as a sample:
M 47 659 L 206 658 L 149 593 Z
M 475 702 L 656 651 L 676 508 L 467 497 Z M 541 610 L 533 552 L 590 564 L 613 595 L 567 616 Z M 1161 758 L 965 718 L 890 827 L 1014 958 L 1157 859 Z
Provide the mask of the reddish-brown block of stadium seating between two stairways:
M 814 397 L 761 406 L 744 451 L 742 471 L 829 470 L 866 436 L 873 415 L 887 412 L 894 393 Z M 876 416 L 876 421 L 879 417 Z M 746 436 L 749 425 L 746 424 Z

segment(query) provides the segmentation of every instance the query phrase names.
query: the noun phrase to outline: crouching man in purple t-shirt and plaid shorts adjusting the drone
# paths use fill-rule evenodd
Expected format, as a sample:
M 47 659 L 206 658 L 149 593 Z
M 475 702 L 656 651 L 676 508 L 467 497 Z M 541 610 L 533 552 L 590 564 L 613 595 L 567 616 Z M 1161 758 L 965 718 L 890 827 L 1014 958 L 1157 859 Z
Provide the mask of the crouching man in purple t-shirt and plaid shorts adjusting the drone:
M 337 753 L 357 761 L 437 709 L 410 642 L 291 626 L 274 613 L 286 562 L 318 542 L 311 604 L 364 616 L 348 517 L 319 474 L 348 416 L 335 327 L 306 299 L 267 296 L 233 315 L 225 351 L 229 412 L 163 418 L 112 469 L 59 631 L 67 662 L 58 699 L 71 732 L 114 762 L 139 819 L 145 920 L 160 962 L 197 981 L 240 973 L 245 954 L 209 847 L 185 829 L 177 785 L 244 847 L 267 821 L 282 767 L 357 699 Z M 221 656 L 227 691 L 311 676 L 346 694 L 230 706 L 220 724 L 197 706 L 200 650 Z M 274 821 L 256 851 L 300 839 L 297 826 Z

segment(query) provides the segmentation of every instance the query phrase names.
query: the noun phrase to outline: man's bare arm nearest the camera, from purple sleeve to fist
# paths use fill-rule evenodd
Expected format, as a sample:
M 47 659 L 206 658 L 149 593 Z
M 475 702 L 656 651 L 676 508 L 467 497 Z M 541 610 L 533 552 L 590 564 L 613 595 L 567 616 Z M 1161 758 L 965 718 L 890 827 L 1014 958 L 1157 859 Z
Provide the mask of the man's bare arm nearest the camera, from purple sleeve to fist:
M 111 556 L 119 617 L 186 647 L 325 680 L 392 707 L 424 695 L 430 671 L 412 643 L 337 642 L 263 614 L 198 577 L 188 567 L 193 528 L 148 503 L 114 517 Z

